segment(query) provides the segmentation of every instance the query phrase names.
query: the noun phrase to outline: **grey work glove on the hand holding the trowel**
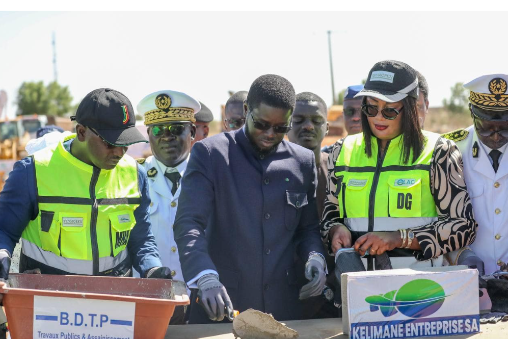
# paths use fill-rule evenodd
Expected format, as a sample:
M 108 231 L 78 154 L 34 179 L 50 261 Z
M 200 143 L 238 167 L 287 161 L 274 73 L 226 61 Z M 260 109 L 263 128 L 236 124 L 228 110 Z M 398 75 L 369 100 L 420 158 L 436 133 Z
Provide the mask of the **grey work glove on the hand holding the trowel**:
M 210 320 L 222 321 L 224 316 L 231 321 L 234 319 L 231 299 L 215 274 L 205 274 L 198 279 L 198 303 Z

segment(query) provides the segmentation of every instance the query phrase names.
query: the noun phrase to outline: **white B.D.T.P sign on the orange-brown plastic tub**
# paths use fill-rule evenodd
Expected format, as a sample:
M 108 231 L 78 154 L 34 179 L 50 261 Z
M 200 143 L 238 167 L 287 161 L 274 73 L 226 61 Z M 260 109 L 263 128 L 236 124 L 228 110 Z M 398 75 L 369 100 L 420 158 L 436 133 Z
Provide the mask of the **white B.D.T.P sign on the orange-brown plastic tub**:
M 133 339 L 136 304 L 34 296 L 34 339 Z

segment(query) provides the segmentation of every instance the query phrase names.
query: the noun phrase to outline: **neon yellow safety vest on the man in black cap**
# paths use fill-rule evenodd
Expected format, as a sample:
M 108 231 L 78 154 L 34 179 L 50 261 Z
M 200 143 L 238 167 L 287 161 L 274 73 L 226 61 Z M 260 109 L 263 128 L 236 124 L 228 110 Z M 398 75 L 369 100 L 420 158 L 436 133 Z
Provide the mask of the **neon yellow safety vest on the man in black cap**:
M 114 169 L 100 170 L 74 158 L 63 143 L 35 152 L 33 159 L 39 215 L 22 238 L 40 250 L 23 253 L 38 261 L 46 255 L 47 265 L 64 271 L 75 264 L 69 273 L 114 269 L 126 258 L 133 212 L 141 203 L 136 161 L 125 155 Z

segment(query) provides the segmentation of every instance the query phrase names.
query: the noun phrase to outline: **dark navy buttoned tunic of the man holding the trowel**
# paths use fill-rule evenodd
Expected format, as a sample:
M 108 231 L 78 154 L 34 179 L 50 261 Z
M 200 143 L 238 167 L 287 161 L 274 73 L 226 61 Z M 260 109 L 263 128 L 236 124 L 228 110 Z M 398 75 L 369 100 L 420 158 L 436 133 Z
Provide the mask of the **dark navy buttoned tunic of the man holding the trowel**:
M 300 318 L 293 255 L 323 254 L 316 185 L 314 154 L 296 144 L 260 155 L 244 129 L 196 143 L 174 224 L 185 281 L 216 270 L 235 309 Z M 191 323 L 207 321 L 192 307 Z

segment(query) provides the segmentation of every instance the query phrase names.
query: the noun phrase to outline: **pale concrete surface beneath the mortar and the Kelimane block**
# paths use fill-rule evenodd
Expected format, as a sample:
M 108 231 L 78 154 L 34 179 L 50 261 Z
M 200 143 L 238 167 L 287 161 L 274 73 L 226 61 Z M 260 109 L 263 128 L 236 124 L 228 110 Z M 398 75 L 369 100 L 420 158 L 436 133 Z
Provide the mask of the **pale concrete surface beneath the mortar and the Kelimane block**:
M 342 334 L 342 319 L 287 321 L 286 326 L 299 332 L 299 339 L 346 339 Z M 166 339 L 233 339 L 232 324 L 173 325 L 168 327 Z M 482 332 L 453 335 L 452 339 L 501 339 L 508 337 L 508 322 L 480 325 Z M 441 336 L 442 338 L 442 336 Z

